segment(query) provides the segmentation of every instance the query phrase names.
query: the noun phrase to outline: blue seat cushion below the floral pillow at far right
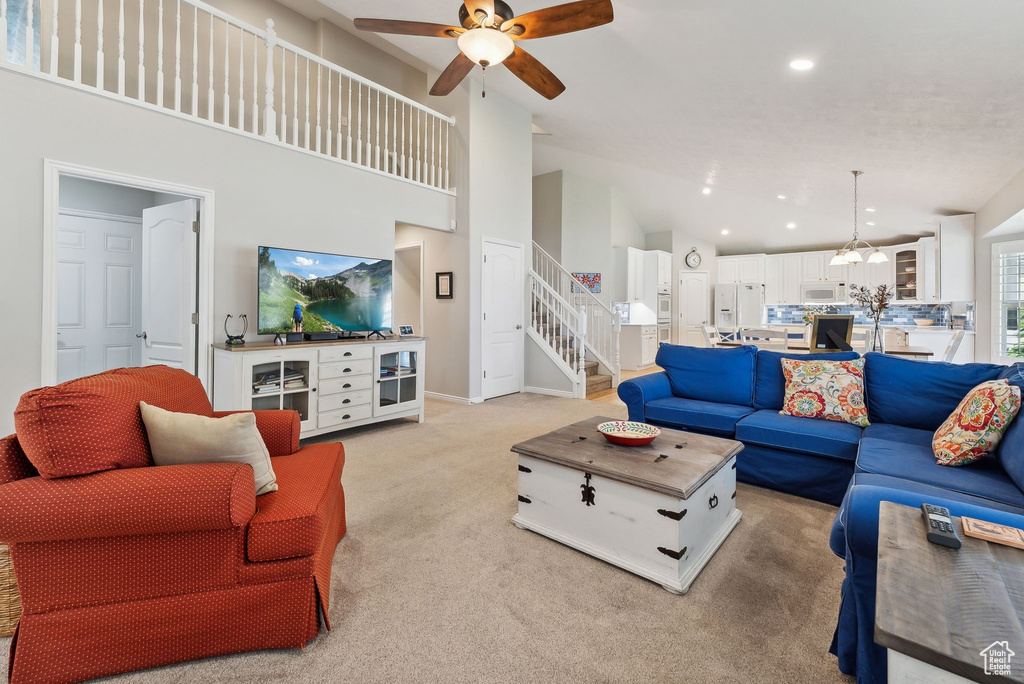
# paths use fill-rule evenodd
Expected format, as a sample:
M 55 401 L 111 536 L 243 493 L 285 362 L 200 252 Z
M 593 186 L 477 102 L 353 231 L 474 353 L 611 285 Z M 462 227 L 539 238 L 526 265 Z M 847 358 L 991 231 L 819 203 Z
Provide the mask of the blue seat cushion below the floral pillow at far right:
M 865 437 L 857 455 L 857 472 L 889 475 L 1024 508 L 1024 491 L 991 458 L 947 468 L 935 462 L 931 446 Z

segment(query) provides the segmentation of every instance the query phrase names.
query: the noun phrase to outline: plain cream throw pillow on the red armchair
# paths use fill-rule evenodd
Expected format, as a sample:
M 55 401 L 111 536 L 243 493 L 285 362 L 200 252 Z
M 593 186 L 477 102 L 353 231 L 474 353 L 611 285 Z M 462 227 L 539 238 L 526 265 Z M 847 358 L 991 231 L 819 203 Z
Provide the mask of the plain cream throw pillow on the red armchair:
M 185 463 L 248 463 L 256 478 L 256 496 L 275 491 L 278 478 L 270 453 L 256 429 L 255 414 L 207 418 L 176 414 L 138 402 L 158 466 Z

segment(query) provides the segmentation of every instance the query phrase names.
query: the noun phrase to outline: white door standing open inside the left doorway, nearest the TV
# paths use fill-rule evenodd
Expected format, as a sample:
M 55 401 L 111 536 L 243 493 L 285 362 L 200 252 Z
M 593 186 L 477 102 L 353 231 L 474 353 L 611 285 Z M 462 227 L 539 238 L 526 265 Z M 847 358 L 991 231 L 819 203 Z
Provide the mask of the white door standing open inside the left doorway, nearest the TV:
M 142 211 L 142 366 L 196 371 L 196 201 Z

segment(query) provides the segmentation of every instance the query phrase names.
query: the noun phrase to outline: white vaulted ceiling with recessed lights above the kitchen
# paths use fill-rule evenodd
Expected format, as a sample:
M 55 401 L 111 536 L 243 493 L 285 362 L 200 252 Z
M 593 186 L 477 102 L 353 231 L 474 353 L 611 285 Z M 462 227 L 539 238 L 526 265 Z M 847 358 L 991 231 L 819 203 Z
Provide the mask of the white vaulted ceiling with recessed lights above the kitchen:
M 460 6 L 322 2 L 348 17 L 453 24 Z M 554 3 L 510 2 L 517 13 Z M 859 169 L 861 234 L 891 242 L 975 211 L 1024 167 L 1021 0 L 614 0 L 614 9 L 608 26 L 522 43 L 566 84 L 557 99 L 500 68 L 487 88 L 551 133 L 535 138 L 535 173 L 615 185 L 648 231 L 688 230 L 725 253 L 830 246 L 851 231 L 849 172 Z M 436 69 L 458 49 L 385 38 Z M 790 69 L 798 57 L 814 69 Z

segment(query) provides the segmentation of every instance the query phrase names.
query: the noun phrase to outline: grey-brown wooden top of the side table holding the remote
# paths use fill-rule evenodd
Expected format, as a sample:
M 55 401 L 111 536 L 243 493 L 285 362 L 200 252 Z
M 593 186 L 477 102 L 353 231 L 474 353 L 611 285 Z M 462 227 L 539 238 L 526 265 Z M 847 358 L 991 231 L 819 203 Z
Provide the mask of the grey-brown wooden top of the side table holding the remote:
M 882 502 L 874 641 L 978 682 L 1024 682 L 1024 551 L 953 527 L 959 550 L 928 541 L 920 508 Z M 996 641 L 1020 652 L 1010 677 L 984 674 Z

